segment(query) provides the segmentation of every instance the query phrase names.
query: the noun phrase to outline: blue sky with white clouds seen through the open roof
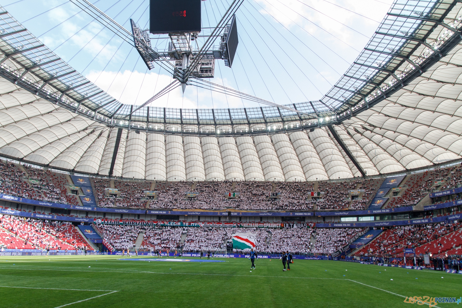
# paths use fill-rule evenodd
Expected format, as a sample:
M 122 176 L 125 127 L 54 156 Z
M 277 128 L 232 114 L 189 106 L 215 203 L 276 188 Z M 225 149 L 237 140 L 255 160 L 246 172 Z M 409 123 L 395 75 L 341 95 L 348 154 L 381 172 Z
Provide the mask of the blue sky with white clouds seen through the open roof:
M 216 60 L 209 81 L 279 103 L 322 98 L 359 55 L 392 0 L 244 0 L 236 12 L 239 44 L 232 68 Z M 149 0 L 91 0 L 130 30 L 149 27 Z M 231 0 L 201 1 L 202 27 L 215 27 Z M 70 0 L 4 0 L 1 5 L 74 69 L 122 103 L 140 105 L 173 81 Z M 203 34 L 206 29 L 202 31 Z M 166 49 L 166 35 L 152 46 Z M 160 39 L 159 39 L 160 38 Z M 198 40 L 205 42 L 205 38 Z M 217 40 L 214 45 L 218 45 Z M 168 108 L 260 106 L 188 85 L 150 104 Z

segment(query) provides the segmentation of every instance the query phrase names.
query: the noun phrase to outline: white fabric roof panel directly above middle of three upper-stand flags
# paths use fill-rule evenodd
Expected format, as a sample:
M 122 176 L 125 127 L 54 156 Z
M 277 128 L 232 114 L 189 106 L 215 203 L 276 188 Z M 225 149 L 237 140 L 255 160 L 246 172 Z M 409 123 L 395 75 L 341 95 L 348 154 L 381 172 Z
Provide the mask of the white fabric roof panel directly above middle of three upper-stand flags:
M 260 157 L 261 169 L 263 169 L 263 174 L 265 175 L 265 181 L 285 181 L 271 138 L 267 135 L 255 136 L 254 141 L 258 157 Z

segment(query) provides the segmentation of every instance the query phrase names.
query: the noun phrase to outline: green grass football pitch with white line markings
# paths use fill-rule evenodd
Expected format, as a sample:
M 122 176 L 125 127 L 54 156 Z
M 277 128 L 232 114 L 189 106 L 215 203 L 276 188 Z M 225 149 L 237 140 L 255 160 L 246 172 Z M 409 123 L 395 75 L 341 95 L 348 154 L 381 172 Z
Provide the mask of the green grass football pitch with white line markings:
M 419 306 L 406 296 L 462 296 L 462 275 L 445 272 L 323 260 L 294 260 L 283 272 L 267 259 L 250 272 L 247 259 L 120 258 L 0 257 L 0 307 L 390 308 Z

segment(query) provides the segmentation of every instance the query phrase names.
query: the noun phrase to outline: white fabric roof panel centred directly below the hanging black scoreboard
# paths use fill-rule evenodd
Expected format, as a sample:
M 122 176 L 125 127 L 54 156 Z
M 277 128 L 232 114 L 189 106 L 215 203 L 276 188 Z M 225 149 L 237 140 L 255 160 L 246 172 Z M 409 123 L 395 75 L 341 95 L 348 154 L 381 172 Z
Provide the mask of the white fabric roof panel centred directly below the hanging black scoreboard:
M 167 135 L 165 138 L 167 181 L 185 181 L 183 139 L 178 135 Z

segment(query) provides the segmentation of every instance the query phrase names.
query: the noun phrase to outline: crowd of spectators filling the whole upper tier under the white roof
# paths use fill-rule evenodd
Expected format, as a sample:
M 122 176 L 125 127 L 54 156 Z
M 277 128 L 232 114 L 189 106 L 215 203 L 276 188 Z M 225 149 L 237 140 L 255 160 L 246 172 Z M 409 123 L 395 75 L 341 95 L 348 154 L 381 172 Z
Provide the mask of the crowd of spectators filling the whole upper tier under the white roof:
M 25 170 L 25 172 L 24 172 Z M 79 199 L 67 185 L 67 175 L 14 163 L 0 161 L 0 192 L 49 202 L 79 205 Z M 97 204 L 100 207 L 134 207 L 165 209 L 213 209 L 223 210 L 336 210 L 350 208 L 364 210 L 371 202 L 383 178 L 345 181 L 319 181 L 317 191 L 323 194 L 311 198 L 312 182 L 270 181 L 179 181 L 152 182 L 91 178 Z M 113 185 L 111 185 L 113 183 Z M 153 188 L 155 185 L 155 188 Z M 428 193 L 462 185 L 462 167 L 448 167 L 408 175 L 398 196 L 393 196 L 385 207 L 415 205 Z M 105 188 L 114 187 L 116 196 L 109 196 Z M 158 192 L 157 198 L 146 197 L 144 191 Z M 358 189 L 359 198 L 350 191 Z M 186 193 L 197 193 L 187 198 Z M 238 193 L 236 199 L 226 198 L 228 193 Z M 277 198 L 270 198 L 278 193 Z M 149 200 L 150 199 L 150 200 Z M 353 200 L 352 200 L 353 199 Z

